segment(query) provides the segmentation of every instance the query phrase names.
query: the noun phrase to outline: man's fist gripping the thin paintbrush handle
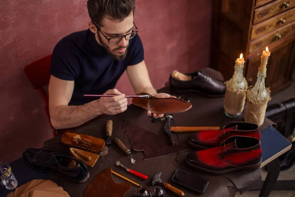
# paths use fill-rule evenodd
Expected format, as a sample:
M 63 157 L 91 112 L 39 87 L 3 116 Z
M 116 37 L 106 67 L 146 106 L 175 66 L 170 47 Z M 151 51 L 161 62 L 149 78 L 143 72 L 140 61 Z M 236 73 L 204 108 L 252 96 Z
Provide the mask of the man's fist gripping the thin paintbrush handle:
M 101 97 L 97 100 L 97 109 L 107 115 L 115 115 L 127 109 L 127 98 L 125 94 L 120 93 L 117 89 L 108 90 L 104 95 L 118 95 L 115 97 Z

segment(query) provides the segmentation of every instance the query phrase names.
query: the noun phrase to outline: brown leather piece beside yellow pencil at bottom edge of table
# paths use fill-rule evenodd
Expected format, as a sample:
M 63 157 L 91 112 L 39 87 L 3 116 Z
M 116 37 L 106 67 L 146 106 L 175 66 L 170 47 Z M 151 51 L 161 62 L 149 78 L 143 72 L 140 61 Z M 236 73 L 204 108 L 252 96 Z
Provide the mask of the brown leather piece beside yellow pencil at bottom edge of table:
M 115 183 L 112 169 L 106 168 L 97 174 L 88 185 L 83 197 L 123 197 L 130 189 L 130 183 Z

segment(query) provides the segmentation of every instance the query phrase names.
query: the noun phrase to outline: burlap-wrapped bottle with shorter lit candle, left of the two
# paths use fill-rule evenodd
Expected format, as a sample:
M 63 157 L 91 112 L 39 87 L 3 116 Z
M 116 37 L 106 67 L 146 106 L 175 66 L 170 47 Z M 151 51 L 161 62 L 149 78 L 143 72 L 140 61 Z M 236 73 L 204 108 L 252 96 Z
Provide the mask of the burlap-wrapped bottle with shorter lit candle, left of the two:
M 224 110 L 225 114 L 231 118 L 240 116 L 245 105 L 248 84 L 243 76 L 244 63 L 243 54 L 240 54 L 240 58 L 236 59 L 234 75 L 226 83 Z

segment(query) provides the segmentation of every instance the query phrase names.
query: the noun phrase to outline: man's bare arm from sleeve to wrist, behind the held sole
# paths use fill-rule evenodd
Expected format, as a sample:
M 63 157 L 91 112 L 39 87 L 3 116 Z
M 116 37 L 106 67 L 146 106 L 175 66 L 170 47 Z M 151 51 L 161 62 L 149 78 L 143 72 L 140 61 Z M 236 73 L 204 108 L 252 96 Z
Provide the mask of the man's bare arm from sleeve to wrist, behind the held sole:
M 157 94 L 157 91 L 153 88 L 150 82 L 145 61 L 142 61 L 141 63 L 134 66 L 128 66 L 126 72 L 129 77 L 130 83 L 133 86 L 135 94 L 143 92 L 148 93 L 152 96 L 155 96 Z

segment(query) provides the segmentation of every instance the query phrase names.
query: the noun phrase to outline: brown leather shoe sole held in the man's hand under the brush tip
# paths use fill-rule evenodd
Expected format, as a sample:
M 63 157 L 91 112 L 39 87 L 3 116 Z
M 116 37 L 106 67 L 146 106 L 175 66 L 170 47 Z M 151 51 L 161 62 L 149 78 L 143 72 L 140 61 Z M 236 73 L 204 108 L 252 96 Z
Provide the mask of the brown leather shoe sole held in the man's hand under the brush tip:
M 140 93 L 139 95 L 148 95 Z M 156 114 L 173 114 L 189 110 L 192 107 L 190 102 L 176 98 L 133 98 L 132 103 Z

